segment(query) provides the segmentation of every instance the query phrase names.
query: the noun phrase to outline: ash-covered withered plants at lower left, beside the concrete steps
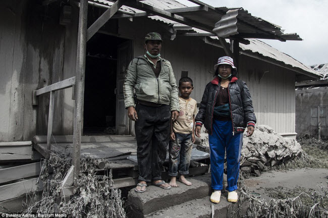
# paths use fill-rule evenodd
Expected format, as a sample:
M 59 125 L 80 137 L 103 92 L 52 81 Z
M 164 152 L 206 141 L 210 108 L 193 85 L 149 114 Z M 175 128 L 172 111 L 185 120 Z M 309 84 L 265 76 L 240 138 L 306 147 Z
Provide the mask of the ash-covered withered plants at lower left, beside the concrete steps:
M 91 157 L 81 159 L 81 174 L 74 184 L 76 194 L 69 200 L 60 197 L 62 181 L 71 162 L 71 157 L 59 152 L 52 152 L 50 158 L 44 160 L 38 179 L 38 186 L 43 186 L 42 198 L 29 205 L 24 213 L 63 213 L 67 217 L 125 217 L 121 190 L 114 187 L 112 171 L 106 171 L 105 176 L 96 175 L 96 161 Z M 52 175 L 49 175 L 48 169 L 52 169 Z M 36 199 L 37 194 L 33 196 Z

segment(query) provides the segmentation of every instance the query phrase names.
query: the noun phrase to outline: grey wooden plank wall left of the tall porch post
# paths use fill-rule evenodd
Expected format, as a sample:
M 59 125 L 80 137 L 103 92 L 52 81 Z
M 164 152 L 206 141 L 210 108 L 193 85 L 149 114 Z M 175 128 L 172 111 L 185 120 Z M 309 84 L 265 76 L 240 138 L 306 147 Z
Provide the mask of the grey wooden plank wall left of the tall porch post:
M 0 1 L 0 141 L 46 134 L 49 95 L 32 106 L 32 91 L 64 79 L 66 31 L 59 12 L 40 1 Z M 62 99 L 57 92 L 54 134 L 63 133 Z

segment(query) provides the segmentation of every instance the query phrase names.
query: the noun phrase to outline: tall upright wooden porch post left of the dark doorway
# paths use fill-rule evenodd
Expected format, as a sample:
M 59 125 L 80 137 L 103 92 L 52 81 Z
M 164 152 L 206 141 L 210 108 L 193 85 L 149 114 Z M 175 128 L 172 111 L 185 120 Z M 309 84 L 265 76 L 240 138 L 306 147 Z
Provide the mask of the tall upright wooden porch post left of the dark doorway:
M 74 179 L 80 174 L 80 152 L 83 120 L 84 101 L 84 79 L 85 79 L 85 59 L 86 59 L 86 30 L 88 16 L 88 0 L 80 1 L 78 45 L 76 55 L 76 83 L 75 83 L 75 103 L 74 103 L 74 123 L 73 123 L 73 165 Z

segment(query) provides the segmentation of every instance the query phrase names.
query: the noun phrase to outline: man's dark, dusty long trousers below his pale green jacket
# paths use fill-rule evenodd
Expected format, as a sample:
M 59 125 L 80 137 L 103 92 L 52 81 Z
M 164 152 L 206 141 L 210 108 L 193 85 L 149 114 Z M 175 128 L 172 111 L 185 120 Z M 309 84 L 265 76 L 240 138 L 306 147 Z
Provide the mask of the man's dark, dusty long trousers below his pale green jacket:
M 137 139 L 139 180 L 161 180 L 161 166 L 165 161 L 170 140 L 170 106 L 136 105 L 138 120 L 134 129 Z

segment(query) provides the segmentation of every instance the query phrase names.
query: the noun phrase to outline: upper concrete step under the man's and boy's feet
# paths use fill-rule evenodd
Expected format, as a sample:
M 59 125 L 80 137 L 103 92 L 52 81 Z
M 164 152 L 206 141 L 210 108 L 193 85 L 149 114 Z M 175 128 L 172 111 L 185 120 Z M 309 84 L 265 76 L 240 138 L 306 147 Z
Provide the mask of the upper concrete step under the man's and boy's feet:
M 128 217 L 144 217 L 153 211 L 208 197 L 211 194 L 210 175 L 191 177 L 188 180 L 192 183 L 191 186 L 178 182 L 179 187 L 168 190 L 153 185 L 149 185 L 144 193 L 137 193 L 134 188 L 131 189 L 127 201 Z

